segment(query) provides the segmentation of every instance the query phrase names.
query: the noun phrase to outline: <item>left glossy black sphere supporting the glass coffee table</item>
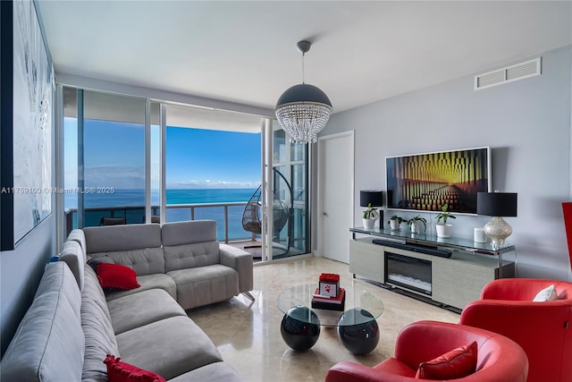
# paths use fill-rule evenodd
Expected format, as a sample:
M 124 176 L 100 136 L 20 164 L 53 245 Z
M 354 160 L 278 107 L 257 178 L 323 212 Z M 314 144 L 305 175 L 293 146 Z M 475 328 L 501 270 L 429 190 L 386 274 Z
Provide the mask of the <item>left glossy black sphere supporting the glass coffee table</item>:
M 302 321 L 299 318 L 304 318 Z M 307 319 L 309 318 L 309 319 Z M 305 306 L 296 306 L 284 315 L 280 333 L 284 342 L 292 349 L 303 352 L 314 346 L 320 335 L 320 320 L 315 312 Z

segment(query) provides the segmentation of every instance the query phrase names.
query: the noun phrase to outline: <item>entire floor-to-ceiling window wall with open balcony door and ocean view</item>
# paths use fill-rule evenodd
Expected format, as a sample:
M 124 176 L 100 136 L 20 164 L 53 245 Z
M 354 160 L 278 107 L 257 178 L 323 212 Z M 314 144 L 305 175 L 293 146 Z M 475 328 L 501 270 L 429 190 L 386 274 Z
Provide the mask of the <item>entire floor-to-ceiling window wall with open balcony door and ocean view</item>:
M 250 241 L 261 253 L 266 220 L 272 244 L 257 259 L 307 253 L 307 145 L 291 143 L 275 122 L 264 140 L 262 122 L 64 86 L 64 232 L 214 219 L 220 241 Z

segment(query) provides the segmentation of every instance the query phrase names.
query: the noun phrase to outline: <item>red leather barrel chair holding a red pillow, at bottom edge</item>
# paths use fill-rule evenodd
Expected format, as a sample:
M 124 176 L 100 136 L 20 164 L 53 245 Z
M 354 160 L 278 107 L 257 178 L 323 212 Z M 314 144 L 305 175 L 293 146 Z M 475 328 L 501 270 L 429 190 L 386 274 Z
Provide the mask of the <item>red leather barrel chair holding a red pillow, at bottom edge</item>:
M 419 381 L 415 375 L 421 362 L 431 361 L 473 341 L 478 344 L 475 373 L 451 381 L 526 382 L 526 354 L 514 341 L 477 327 L 438 321 L 417 321 L 401 329 L 395 357 L 373 368 L 350 361 L 339 362 L 328 370 L 325 381 Z

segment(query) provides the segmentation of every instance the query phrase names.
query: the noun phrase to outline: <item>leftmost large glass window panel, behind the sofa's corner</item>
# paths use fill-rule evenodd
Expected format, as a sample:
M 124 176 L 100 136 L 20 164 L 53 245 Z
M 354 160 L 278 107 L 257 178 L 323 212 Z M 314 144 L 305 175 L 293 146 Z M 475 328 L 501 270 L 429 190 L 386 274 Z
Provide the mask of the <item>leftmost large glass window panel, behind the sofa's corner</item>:
M 63 88 L 63 100 L 67 231 L 143 223 L 145 99 Z

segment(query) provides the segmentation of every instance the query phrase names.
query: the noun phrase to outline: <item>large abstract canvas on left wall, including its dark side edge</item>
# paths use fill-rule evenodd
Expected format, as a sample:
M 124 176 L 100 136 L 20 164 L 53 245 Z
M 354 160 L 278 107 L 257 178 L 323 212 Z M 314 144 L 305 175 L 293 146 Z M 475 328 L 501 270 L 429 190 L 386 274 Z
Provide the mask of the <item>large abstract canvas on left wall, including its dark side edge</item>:
M 2 250 L 13 250 L 52 213 L 55 82 L 35 3 L 1 3 L 0 244 Z

